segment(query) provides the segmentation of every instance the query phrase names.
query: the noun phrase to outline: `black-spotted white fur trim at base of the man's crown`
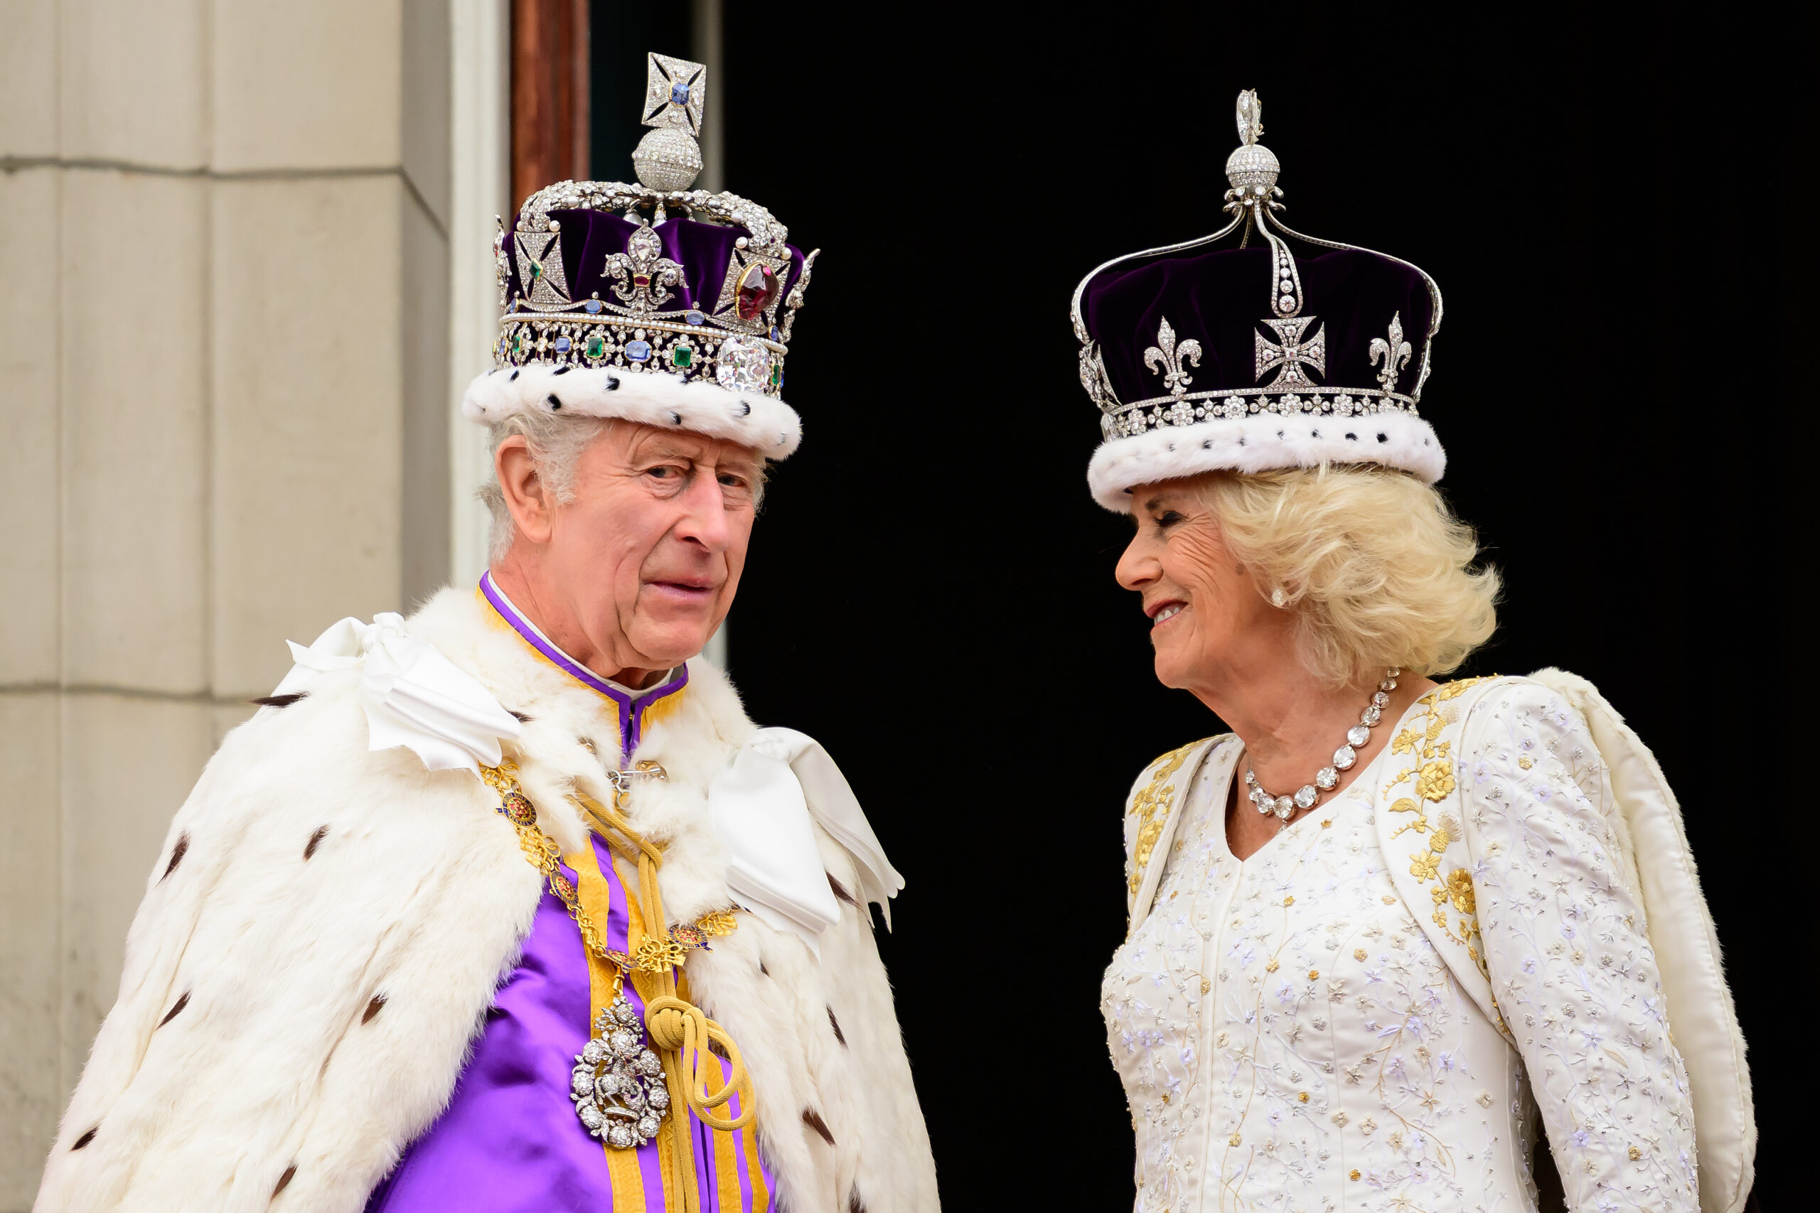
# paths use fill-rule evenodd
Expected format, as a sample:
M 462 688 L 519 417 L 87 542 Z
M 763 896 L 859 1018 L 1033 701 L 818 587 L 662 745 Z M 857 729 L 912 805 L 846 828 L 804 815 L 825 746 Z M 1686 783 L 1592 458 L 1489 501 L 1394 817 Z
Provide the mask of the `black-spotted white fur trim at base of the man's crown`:
M 803 420 L 783 400 L 703 380 L 684 382 L 668 371 L 500 367 L 468 384 L 460 411 L 471 422 L 491 426 L 513 413 L 551 413 L 557 402 L 562 413 L 692 429 L 748 446 L 768 460 L 790 458 L 803 442 Z

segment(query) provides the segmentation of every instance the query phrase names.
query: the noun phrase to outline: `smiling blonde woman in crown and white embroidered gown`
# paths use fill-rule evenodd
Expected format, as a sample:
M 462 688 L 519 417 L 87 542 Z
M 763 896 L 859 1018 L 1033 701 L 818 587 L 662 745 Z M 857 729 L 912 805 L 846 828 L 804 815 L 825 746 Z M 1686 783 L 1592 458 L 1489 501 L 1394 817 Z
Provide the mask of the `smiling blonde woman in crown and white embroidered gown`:
M 1416 411 L 1440 293 L 1298 256 L 1250 93 L 1239 131 L 1232 224 L 1074 302 L 1116 576 L 1232 727 L 1127 802 L 1136 1208 L 1534 1209 L 1552 1157 L 1574 1211 L 1729 1213 L 1749 1078 L 1673 795 L 1572 675 L 1440 680 L 1498 596 Z

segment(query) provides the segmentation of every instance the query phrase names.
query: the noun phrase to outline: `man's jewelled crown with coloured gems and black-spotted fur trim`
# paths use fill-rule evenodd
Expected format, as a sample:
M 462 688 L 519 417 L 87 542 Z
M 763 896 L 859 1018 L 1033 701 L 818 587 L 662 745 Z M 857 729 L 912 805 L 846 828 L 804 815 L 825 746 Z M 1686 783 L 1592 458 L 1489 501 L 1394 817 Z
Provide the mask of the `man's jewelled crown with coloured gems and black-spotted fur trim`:
M 570 409 L 795 449 L 784 355 L 819 249 L 755 202 L 690 189 L 704 95 L 706 67 L 650 55 L 639 184 L 557 182 L 500 224 L 504 315 L 470 416 Z

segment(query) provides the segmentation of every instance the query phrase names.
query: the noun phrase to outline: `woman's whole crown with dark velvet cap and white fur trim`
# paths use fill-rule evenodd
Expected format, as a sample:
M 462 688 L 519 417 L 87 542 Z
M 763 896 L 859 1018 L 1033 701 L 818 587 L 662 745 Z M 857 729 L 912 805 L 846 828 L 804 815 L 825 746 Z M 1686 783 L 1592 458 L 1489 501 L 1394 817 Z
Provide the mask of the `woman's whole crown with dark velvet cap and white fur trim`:
M 1438 480 L 1445 455 L 1416 406 L 1440 289 L 1405 260 L 1287 227 L 1254 91 L 1239 95 L 1238 127 L 1232 222 L 1114 258 L 1074 291 L 1081 384 L 1105 435 L 1094 496 L 1123 511 L 1138 484 L 1320 464 Z M 1238 247 L 1205 251 L 1234 231 Z M 1287 238 L 1312 255 L 1298 258 Z

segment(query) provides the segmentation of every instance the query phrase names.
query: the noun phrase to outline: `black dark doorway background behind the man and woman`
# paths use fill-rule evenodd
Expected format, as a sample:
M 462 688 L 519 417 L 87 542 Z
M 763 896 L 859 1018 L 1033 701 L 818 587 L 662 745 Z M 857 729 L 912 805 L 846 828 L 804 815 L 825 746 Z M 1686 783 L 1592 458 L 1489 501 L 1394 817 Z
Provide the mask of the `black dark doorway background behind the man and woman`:
M 1221 726 L 1156 684 L 1112 582 L 1128 524 L 1087 495 L 1067 302 L 1223 224 L 1256 87 L 1290 226 L 1441 284 L 1423 415 L 1507 578 L 1463 673 L 1572 669 L 1656 749 L 1751 1042 L 1758 1197 L 1802 1208 L 1807 35 L 1734 7 L 1238 11 L 726 5 L 726 184 L 824 249 L 732 671 L 761 724 L 826 744 L 908 877 L 881 949 L 945 1200 L 1130 1200 L 1097 1007 L 1121 800 Z M 628 80 L 597 71 L 597 113 L 637 105 Z M 597 176 L 635 135 L 597 125 Z

